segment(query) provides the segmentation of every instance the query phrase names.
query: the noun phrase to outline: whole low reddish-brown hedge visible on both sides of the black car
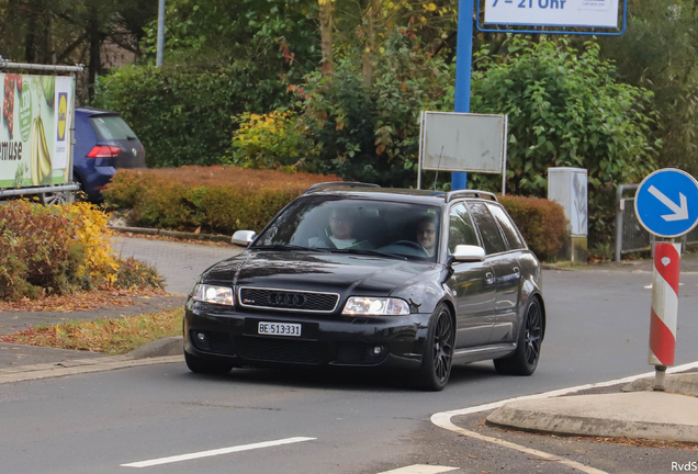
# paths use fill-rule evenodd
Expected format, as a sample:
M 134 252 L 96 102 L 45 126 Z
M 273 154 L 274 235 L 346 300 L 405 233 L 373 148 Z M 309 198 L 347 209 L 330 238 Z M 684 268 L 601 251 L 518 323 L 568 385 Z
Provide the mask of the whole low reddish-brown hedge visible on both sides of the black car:
M 133 226 L 232 235 L 238 229 L 260 232 L 284 205 L 325 181 L 339 178 L 222 166 L 120 169 L 104 198 L 112 210 L 131 210 Z M 560 204 L 519 196 L 499 201 L 539 259 L 558 256 L 567 235 Z

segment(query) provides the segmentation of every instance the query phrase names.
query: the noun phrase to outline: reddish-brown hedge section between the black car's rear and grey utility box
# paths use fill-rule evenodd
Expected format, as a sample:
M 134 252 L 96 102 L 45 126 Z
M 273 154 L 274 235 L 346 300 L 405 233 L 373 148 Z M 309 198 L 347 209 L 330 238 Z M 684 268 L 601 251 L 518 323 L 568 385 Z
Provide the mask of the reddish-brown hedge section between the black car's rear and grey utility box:
M 540 260 L 551 260 L 559 255 L 568 234 L 565 212 L 560 204 L 520 196 L 499 196 L 499 202 Z

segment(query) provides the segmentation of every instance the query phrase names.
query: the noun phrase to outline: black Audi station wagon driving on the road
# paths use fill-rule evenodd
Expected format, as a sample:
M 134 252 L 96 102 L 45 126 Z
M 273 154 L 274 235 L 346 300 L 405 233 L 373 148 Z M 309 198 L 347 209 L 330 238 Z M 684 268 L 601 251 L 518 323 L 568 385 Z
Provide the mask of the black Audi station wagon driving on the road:
M 193 372 L 381 366 L 441 390 L 453 363 L 538 365 L 541 267 L 492 193 L 322 183 L 233 242 L 187 302 Z

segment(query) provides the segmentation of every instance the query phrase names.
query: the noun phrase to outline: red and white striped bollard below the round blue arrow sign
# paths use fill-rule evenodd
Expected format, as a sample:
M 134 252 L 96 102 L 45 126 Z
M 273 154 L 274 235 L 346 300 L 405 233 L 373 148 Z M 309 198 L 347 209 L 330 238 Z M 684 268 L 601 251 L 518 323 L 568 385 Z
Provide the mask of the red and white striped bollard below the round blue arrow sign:
M 666 366 L 674 365 L 680 249 L 680 244 L 654 245 L 649 363 L 656 369 L 655 391 L 664 391 Z

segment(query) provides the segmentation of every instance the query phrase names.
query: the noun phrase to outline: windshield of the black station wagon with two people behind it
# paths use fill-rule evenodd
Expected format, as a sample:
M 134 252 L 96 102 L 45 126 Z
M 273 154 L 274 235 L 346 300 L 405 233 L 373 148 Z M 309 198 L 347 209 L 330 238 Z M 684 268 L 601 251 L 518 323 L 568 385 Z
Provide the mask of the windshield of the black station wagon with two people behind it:
M 436 206 L 318 196 L 291 204 L 252 248 L 435 261 L 439 228 Z

